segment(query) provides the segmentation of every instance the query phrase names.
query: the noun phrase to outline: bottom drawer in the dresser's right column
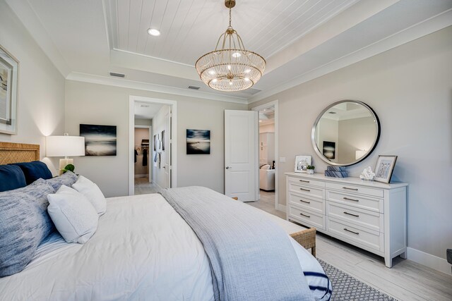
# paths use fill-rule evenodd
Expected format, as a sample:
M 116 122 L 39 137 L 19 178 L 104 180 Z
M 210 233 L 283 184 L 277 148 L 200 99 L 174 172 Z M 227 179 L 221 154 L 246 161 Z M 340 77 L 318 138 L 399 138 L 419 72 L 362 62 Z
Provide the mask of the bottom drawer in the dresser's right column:
M 328 217 L 326 221 L 328 232 L 338 238 L 343 238 L 356 242 L 360 245 L 371 248 L 372 250 L 384 252 L 383 234 L 377 231 L 371 231 L 359 226 L 351 226 L 343 223 L 333 217 Z

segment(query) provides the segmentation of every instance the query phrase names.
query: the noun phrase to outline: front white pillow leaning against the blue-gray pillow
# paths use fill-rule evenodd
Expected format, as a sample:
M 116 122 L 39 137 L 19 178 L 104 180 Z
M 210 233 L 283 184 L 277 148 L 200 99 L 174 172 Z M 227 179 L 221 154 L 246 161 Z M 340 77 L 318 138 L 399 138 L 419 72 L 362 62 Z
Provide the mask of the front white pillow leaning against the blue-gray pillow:
M 85 243 L 97 230 L 99 216 L 80 192 L 61 185 L 57 193 L 47 195 L 50 218 L 66 242 Z

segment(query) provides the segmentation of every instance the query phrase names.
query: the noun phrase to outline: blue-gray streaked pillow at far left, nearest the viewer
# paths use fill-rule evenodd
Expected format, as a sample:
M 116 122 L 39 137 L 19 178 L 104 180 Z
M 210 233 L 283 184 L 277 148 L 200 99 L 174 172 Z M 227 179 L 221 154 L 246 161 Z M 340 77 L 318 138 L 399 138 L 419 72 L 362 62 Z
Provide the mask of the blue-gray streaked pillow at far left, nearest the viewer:
M 54 192 L 43 179 L 0 192 L 0 277 L 22 271 L 40 242 L 54 231 L 47 214 L 47 195 Z

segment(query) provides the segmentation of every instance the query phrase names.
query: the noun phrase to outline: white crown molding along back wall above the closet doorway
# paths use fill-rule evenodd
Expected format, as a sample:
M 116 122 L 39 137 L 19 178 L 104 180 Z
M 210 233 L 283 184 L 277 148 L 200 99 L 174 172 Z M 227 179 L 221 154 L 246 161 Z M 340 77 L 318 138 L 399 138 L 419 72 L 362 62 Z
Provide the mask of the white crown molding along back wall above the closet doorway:
M 124 87 L 136 90 L 159 92 L 165 94 L 174 94 L 186 97 L 197 97 L 201 99 L 215 100 L 218 102 L 232 102 L 235 104 L 247 104 L 246 98 L 227 97 L 225 95 L 213 94 L 208 92 L 184 90 L 177 87 L 168 87 L 164 85 L 154 85 L 149 82 L 137 82 L 133 80 L 124 80 L 119 78 L 109 78 L 107 76 L 93 75 L 86 73 L 71 72 L 66 80 L 75 80 L 78 82 L 89 82 L 98 85 L 108 85 L 114 87 Z

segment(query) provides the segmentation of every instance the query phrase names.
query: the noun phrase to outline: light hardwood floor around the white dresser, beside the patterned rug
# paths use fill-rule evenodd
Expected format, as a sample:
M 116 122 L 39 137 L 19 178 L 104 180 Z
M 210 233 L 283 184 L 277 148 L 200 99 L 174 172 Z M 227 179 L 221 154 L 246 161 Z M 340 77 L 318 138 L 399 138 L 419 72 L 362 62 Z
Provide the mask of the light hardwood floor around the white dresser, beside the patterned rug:
M 274 192 L 261 190 L 261 199 L 246 204 L 285 219 L 285 212 L 275 209 Z M 383 257 L 322 233 L 317 233 L 316 253 L 324 262 L 398 300 L 452 300 L 452 276 L 411 260 L 396 257 L 388 269 Z

